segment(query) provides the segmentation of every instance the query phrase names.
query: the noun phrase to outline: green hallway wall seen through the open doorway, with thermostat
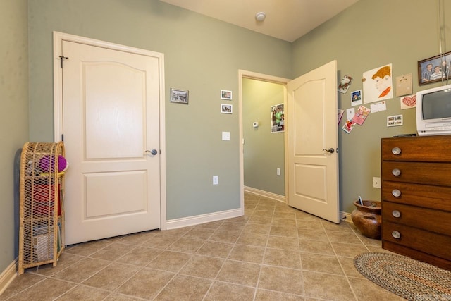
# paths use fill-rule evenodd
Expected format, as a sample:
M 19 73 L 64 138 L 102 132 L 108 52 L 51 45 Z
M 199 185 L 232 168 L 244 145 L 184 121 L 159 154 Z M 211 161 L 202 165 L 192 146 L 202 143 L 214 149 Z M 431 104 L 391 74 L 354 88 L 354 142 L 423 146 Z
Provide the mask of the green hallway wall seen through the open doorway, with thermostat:
M 244 78 L 242 91 L 245 186 L 285 195 L 284 133 L 271 133 L 270 122 L 271 106 L 283 104 L 283 85 Z

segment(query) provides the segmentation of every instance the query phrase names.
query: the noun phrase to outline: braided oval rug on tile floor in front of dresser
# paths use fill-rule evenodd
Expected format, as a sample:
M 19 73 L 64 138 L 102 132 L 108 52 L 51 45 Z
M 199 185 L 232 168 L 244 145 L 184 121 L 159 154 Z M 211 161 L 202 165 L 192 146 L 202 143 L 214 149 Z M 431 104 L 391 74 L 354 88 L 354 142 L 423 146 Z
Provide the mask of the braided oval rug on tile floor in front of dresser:
M 388 253 L 363 253 L 354 266 L 377 285 L 407 300 L 451 301 L 451 271 Z

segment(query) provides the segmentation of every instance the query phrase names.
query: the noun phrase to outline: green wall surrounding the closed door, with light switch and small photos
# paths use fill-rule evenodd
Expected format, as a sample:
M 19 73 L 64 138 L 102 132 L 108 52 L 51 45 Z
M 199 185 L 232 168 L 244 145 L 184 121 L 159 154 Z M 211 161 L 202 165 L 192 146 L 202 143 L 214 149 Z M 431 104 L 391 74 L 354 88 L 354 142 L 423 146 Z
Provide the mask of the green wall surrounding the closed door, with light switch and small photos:
M 286 78 L 290 43 L 156 0 L 29 6 L 32 140 L 53 140 L 52 31 L 158 51 L 165 56 L 167 218 L 240 207 L 238 69 Z M 190 104 L 169 103 L 171 87 L 189 90 Z M 221 90 L 233 91 L 232 115 L 221 114 Z

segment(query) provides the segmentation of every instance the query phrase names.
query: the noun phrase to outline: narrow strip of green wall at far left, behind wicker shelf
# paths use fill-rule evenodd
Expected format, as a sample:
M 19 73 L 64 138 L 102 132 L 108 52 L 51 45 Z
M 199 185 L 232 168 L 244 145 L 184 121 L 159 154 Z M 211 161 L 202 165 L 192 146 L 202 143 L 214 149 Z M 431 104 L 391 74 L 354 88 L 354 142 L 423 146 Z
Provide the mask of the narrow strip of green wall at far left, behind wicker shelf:
M 0 1 L 0 274 L 18 254 L 18 161 L 28 139 L 27 1 Z

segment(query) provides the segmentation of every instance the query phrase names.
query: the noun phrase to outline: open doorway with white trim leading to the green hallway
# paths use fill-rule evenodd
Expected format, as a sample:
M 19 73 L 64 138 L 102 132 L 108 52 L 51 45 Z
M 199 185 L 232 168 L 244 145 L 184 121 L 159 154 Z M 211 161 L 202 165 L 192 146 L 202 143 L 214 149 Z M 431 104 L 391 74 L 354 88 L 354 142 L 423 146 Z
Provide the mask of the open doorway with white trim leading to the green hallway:
M 271 107 L 285 106 L 289 81 L 239 70 L 242 208 L 245 190 L 285 202 L 285 132 L 271 133 Z

